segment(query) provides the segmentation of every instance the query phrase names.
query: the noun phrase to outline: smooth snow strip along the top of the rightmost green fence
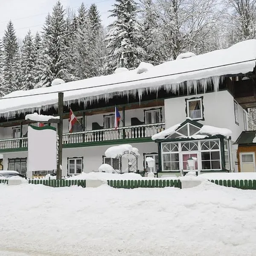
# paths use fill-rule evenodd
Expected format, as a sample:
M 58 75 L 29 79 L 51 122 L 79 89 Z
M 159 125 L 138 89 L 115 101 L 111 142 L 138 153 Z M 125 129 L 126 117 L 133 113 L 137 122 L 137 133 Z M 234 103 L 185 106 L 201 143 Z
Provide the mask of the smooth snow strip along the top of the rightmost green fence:
M 256 180 L 256 172 L 202 173 L 198 177 L 207 180 Z

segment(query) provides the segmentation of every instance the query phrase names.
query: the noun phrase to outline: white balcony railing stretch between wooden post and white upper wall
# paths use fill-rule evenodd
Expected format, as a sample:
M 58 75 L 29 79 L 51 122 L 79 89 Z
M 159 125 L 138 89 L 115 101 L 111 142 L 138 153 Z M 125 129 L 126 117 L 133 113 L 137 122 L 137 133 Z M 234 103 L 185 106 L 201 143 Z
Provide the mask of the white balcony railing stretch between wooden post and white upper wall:
M 117 129 L 110 128 L 66 133 L 63 134 L 63 144 L 146 138 L 164 130 L 164 128 L 165 122 L 162 122 L 147 125 L 124 126 L 118 127 Z

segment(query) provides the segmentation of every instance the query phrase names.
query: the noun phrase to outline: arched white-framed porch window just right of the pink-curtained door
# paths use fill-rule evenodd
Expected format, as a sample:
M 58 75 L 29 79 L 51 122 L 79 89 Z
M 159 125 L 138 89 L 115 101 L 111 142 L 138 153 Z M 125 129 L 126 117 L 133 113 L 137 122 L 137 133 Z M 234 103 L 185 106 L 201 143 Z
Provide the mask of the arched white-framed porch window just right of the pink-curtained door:
M 218 140 L 201 142 L 202 170 L 221 169 L 221 154 Z

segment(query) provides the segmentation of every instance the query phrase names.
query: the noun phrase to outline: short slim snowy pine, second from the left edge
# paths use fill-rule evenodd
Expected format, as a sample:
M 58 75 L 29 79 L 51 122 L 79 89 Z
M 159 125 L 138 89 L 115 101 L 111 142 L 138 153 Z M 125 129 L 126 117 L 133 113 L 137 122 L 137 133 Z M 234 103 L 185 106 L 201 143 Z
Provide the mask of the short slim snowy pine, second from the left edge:
M 21 89 L 30 90 L 35 86 L 35 46 L 31 31 L 26 34 L 21 48 Z

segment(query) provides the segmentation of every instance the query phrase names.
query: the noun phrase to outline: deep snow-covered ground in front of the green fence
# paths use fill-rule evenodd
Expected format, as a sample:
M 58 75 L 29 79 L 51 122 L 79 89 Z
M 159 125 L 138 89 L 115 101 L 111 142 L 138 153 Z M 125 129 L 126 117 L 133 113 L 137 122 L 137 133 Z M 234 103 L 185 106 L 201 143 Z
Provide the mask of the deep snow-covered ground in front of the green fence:
M 22 184 L 0 194 L 0 255 L 255 255 L 252 190 Z

